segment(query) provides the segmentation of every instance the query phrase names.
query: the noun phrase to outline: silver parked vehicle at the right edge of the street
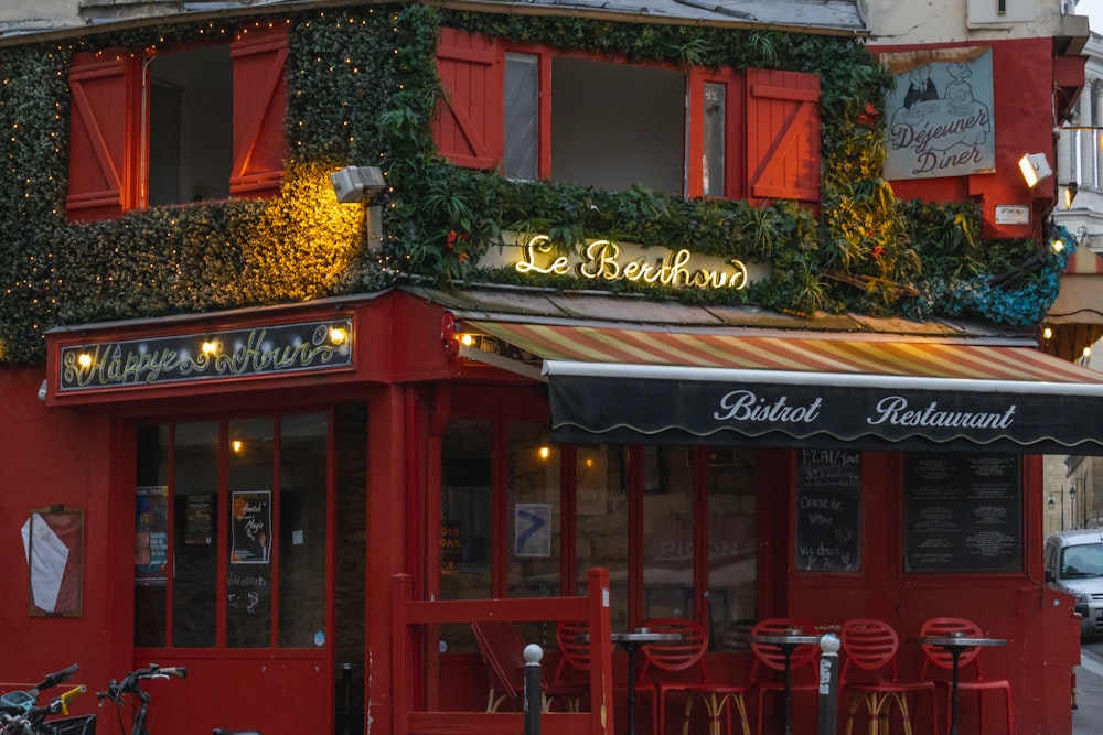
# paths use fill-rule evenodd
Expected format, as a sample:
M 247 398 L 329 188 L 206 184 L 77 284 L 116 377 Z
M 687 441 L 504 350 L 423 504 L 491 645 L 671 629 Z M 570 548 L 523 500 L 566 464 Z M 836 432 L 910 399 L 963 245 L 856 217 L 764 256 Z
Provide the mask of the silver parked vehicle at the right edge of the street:
M 1053 533 L 1045 568 L 1046 584 L 1077 598 L 1081 637 L 1103 634 L 1103 529 Z

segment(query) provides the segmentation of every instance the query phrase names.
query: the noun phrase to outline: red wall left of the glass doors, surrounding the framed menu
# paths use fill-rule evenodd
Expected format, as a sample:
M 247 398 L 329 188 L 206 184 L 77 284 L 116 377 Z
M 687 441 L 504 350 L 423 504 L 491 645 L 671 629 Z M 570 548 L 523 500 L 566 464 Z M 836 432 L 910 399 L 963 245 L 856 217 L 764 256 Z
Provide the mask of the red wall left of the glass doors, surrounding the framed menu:
M 119 572 L 133 563 L 132 547 L 130 560 L 108 551 L 119 522 L 110 512 L 106 485 L 109 422 L 99 412 L 46 408 L 36 398 L 43 378 L 42 368 L 0 370 L 0 553 L 9 561 L 0 585 L 6 603 L 0 605 L 0 630 L 10 648 L 0 657 L 0 689 L 32 685 L 42 674 L 78 663 L 72 683 L 95 692 L 130 663 L 132 610 L 130 597 L 118 594 L 118 584 Z M 20 528 L 32 510 L 54 504 L 85 511 L 81 617 L 28 615 L 29 573 Z M 120 599 L 126 604 L 118 604 Z M 90 712 L 95 706 L 95 696 L 85 694 L 73 709 Z

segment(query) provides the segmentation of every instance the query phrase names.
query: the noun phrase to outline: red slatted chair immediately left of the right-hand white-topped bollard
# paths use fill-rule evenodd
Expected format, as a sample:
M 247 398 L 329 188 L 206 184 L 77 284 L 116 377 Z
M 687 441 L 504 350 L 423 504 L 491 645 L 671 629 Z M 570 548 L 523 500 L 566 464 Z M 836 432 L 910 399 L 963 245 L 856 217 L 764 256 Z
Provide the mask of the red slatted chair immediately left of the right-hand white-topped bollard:
M 797 618 L 767 618 L 754 624 L 754 627 L 751 628 L 751 636 L 783 634 L 794 629 L 812 633 L 815 626 L 807 620 Z M 765 695 L 770 692 L 778 694 L 785 692 L 785 652 L 779 646 L 757 644 L 753 640 L 751 641 L 751 651 L 754 653 L 754 663 L 751 666 L 750 688 L 758 691 L 758 733 L 762 735 L 765 722 Z M 790 691 L 794 694 L 811 692 L 814 695 L 810 698 L 813 706 L 817 706 L 820 703 L 820 672 L 815 666 L 818 656 L 818 646 L 806 645 L 793 649 L 789 659 L 792 677 Z

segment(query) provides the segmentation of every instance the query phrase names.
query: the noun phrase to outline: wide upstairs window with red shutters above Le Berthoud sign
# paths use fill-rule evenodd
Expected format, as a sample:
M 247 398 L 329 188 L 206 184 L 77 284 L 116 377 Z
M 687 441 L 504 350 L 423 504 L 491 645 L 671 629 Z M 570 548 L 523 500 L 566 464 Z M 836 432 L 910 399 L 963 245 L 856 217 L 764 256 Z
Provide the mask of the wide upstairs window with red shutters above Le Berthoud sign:
M 438 150 L 522 181 L 820 202 L 812 74 L 633 65 L 445 29 Z

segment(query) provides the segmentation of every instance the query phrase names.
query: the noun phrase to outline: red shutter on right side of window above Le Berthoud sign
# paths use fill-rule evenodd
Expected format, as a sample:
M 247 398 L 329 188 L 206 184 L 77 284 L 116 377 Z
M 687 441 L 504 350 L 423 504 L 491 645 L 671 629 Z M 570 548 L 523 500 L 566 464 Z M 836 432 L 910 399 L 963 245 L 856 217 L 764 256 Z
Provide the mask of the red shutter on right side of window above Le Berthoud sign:
M 820 204 L 820 77 L 747 69 L 748 199 Z

